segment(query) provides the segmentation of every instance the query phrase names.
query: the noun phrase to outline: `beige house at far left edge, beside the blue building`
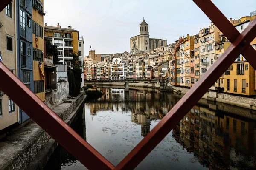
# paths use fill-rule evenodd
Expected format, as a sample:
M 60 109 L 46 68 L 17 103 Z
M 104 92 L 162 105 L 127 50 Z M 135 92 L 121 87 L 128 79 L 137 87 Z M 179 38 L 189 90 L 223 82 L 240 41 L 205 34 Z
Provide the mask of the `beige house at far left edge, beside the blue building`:
M 16 3 L 17 1 L 12 1 L 3 11 L 0 11 L 0 62 L 3 62 L 3 64 L 15 75 L 17 75 L 15 45 Z M 1 79 L 0 83 L 5 83 L 5 80 Z M 19 111 L 17 105 L 9 98 L 9 96 L 0 91 L 0 130 L 18 122 Z

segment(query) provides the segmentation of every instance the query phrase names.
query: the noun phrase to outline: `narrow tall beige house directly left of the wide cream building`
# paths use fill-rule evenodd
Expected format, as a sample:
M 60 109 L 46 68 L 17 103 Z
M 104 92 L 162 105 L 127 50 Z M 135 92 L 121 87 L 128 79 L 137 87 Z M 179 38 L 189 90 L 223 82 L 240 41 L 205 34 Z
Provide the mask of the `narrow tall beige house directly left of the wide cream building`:
M 200 55 L 199 55 L 199 34 L 194 35 L 194 65 L 195 65 L 195 83 L 200 78 Z

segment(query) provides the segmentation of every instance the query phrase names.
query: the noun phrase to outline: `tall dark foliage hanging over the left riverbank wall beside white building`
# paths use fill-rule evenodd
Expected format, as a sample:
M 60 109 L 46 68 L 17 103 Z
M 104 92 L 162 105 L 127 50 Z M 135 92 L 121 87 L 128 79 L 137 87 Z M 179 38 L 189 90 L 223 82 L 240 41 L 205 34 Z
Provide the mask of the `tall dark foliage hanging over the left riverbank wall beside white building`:
M 81 69 L 79 68 L 73 68 L 72 70 L 67 71 L 70 96 L 77 96 L 80 93 L 81 74 Z

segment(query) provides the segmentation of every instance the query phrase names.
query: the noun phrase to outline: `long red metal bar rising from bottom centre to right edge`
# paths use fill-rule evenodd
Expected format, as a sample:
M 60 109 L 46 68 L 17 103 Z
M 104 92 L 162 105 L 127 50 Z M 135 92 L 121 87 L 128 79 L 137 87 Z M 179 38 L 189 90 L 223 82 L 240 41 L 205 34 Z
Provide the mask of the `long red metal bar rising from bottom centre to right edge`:
M 207 5 L 207 3 L 205 4 Z M 230 45 L 227 51 L 209 68 L 206 74 L 180 99 L 150 133 L 116 166 L 115 170 L 130 170 L 163 140 L 186 113 L 201 99 L 232 62 L 250 45 L 256 36 L 256 20 Z

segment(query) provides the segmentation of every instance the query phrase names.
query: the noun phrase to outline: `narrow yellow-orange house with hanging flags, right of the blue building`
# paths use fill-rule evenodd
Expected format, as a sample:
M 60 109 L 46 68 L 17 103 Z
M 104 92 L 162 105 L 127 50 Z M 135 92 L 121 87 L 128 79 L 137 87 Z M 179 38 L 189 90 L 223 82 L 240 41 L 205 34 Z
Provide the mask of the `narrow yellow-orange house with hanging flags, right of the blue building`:
M 33 11 L 33 77 L 34 93 L 39 99 L 45 101 L 45 75 L 44 75 L 44 0 L 32 0 Z M 55 73 L 56 74 L 56 73 Z M 49 81 L 53 81 L 49 80 Z M 56 81 L 56 79 L 55 79 Z M 53 84 L 53 82 L 47 82 Z

